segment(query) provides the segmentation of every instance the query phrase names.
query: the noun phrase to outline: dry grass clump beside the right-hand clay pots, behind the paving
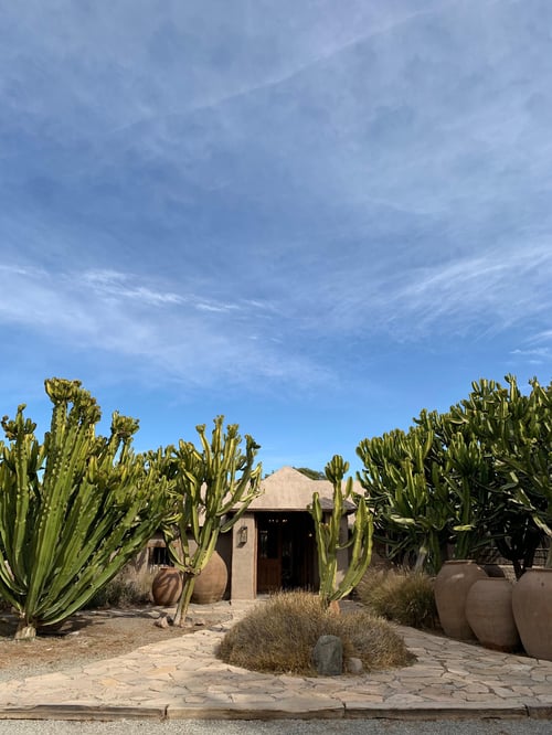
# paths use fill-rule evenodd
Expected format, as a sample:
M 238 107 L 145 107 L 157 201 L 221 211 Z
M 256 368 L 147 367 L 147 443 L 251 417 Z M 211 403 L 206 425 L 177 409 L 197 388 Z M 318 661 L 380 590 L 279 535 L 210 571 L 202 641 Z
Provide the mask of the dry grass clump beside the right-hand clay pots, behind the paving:
M 412 628 L 433 629 L 437 626 L 433 582 L 423 572 L 369 569 L 357 593 L 373 615 Z

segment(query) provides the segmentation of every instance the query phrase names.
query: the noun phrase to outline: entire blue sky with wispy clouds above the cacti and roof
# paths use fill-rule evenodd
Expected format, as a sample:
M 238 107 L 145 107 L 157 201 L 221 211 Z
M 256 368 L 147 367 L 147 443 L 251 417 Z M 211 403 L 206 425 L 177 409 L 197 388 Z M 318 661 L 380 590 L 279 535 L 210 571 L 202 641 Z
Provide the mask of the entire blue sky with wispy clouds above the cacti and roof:
M 0 412 L 45 377 L 322 469 L 551 380 L 552 3 L 25 0 L 0 13 Z

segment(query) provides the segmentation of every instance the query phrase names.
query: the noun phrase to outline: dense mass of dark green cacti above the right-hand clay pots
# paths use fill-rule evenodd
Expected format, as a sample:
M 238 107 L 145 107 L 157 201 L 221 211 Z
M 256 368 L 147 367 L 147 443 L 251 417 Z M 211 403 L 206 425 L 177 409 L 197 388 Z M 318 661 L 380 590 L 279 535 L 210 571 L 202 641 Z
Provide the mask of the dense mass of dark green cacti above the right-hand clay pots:
M 395 561 L 436 573 L 448 554 L 493 544 L 520 577 L 552 539 L 552 384 L 533 379 L 526 395 L 506 381 L 474 382 L 448 412 L 360 443 L 375 537 Z

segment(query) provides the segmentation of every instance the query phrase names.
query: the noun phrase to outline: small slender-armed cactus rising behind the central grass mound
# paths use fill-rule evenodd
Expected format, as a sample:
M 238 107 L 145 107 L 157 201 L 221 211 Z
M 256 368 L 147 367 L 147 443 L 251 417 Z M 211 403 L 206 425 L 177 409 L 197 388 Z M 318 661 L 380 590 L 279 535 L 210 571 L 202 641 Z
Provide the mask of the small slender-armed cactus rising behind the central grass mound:
M 372 515 L 368 512 L 364 498 L 354 496 L 352 478 L 348 478 L 343 489 L 343 477 L 348 469 L 349 462 L 343 461 L 339 455 L 335 455 L 326 465 L 326 477 L 333 484 L 333 508 L 328 520 L 325 520 L 318 492 L 312 493 L 312 505 L 309 509 L 315 521 L 320 575 L 319 595 L 326 606 L 332 600 L 346 597 L 354 589 L 372 557 Z M 355 503 L 357 511 L 351 537 L 341 541 L 341 520 L 347 500 Z M 349 566 L 342 579 L 338 582 L 338 552 L 349 548 L 351 550 Z

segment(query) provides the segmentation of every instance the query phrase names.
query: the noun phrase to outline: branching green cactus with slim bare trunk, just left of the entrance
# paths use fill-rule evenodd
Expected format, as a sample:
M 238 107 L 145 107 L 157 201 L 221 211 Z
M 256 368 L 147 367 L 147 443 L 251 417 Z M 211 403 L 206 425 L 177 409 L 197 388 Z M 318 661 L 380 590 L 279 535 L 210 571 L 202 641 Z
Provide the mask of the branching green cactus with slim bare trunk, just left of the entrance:
M 261 493 L 262 466 L 254 466 L 259 446 L 245 435 L 243 454 L 237 424 L 229 425 L 224 433 L 223 422 L 224 416 L 214 419 L 211 441 L 205 426 L 197 426 L 201 450 L 181 440 L 178 448 L 168 447 L 156 459 L 171 482 L 164 536 L 174 566 L 184 577 L 177 626 L 184 625 L 195 579 L 211 558 L 219 534 L 230 531 Z

